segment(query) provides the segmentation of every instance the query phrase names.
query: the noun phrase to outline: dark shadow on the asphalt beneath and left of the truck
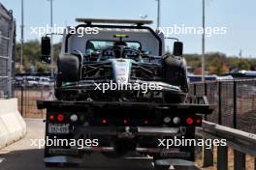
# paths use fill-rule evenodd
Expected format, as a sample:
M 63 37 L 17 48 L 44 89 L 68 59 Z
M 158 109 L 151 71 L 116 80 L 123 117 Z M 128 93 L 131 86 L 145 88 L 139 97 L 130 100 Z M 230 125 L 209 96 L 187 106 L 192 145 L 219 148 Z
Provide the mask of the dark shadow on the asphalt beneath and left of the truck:
M 44 150 L 1 150 L 0 170 L 151 170 L 151 160 L 146 157 L 108 158 L 100 154 L 84 156 L 80 167 L 51 167 L 44 164 Z M 4 153 L 4 154 L 3 154 Z

